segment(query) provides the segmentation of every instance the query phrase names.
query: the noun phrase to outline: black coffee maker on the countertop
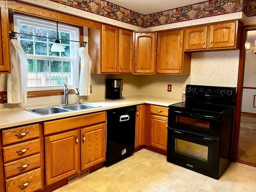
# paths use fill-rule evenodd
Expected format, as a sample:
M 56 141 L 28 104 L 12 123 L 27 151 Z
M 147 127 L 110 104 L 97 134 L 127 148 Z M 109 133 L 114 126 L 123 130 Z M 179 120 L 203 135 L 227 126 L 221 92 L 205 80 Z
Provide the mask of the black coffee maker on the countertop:
M 106 99 L 124 99 L 124 97 L 122 97 L 122 85 L 122 79 L 106 79 Z

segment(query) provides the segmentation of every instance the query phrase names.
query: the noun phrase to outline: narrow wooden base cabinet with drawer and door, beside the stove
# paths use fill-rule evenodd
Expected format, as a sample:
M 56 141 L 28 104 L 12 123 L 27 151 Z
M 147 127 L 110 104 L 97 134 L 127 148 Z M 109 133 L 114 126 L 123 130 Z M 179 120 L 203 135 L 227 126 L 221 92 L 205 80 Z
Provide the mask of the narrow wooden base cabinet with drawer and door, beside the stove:
M 168 108 L 151 106 L 150 146 L 167 150 Z

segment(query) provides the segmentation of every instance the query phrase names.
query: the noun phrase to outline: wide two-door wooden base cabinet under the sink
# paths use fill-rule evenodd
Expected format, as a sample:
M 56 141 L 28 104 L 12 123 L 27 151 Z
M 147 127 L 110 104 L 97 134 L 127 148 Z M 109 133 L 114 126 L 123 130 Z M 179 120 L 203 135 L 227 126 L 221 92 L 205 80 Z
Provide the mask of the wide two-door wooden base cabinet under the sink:
M 98 112 L 44 123 L 52 133 L 45 136 L 46 186 L 106 160 L 105 122 L 106 112 Z

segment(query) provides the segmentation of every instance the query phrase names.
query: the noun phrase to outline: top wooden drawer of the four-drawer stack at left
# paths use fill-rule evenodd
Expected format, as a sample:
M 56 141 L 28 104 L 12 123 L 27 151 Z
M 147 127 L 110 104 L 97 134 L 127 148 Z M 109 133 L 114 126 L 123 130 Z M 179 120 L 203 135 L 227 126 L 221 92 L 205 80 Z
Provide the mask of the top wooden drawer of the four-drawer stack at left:
M 2 131 L 3 145 L 39 137 L 39 124 Z

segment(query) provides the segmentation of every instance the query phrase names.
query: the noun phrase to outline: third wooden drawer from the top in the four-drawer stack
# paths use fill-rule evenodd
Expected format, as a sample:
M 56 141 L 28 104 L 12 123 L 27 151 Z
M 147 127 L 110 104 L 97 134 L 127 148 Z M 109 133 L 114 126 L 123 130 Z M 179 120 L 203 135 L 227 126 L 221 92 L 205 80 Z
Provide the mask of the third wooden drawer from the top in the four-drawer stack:
M 36 154 L 27 158 L 23 158 L 14 162 L 4 164 L 5 177 L 11 177 L 22 174 L 41 165 L 40 154 Z

